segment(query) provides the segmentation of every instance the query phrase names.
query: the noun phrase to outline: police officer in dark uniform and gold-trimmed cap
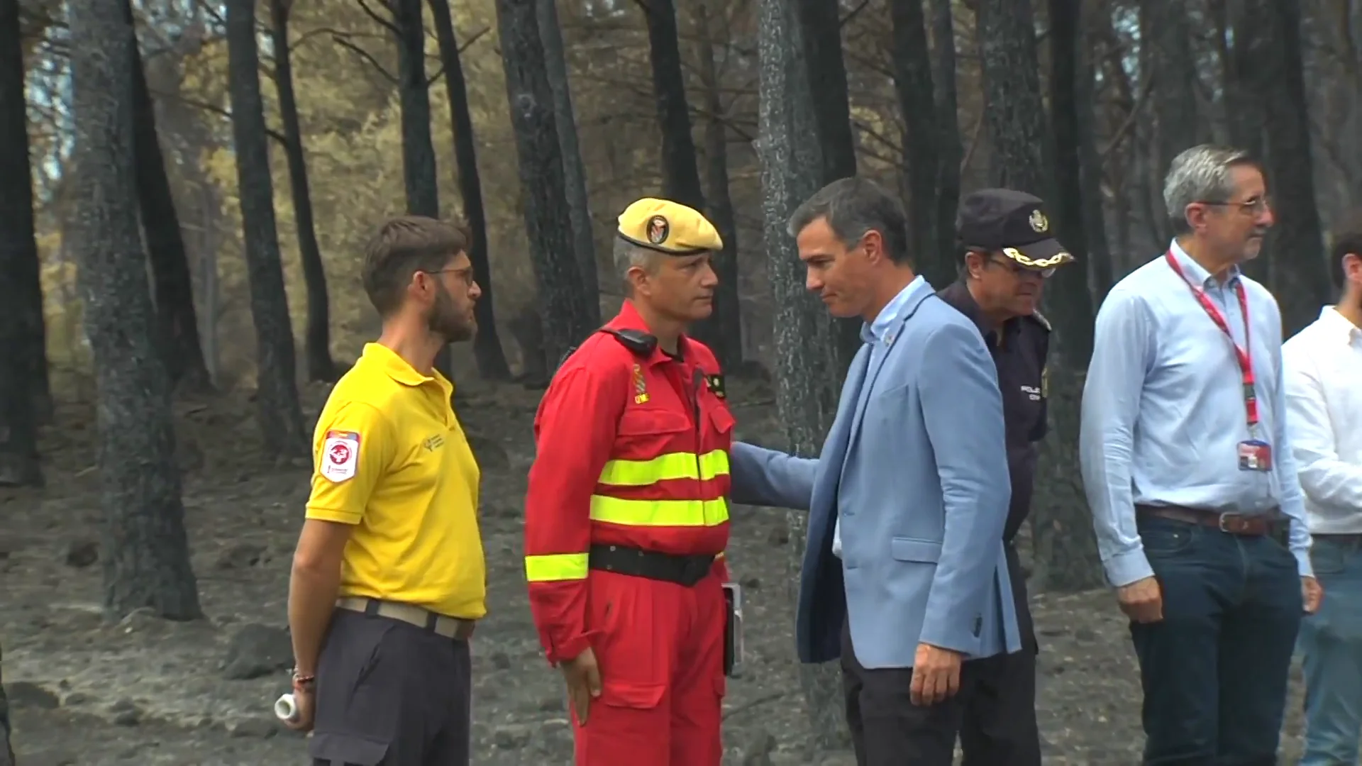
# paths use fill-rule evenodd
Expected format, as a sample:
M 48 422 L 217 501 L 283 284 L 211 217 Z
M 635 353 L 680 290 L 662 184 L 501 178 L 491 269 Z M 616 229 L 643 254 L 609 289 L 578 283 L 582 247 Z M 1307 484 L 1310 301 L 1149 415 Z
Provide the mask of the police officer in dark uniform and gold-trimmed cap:
M 981 683 L 966 702 L 960 746 L 966 766 L 1041 766 L 1038 647 L 1012 541 L 1031 510 L 1036 442 L 1046 433 L 1050 323 L 1035 305 L 1045 279 L 1073 256 L 1053 237 L 1045 203 L 1012 189 L 981 189 L 962 200 L 956 243 L 964 251 L 960 279 L 938 296 L 979 326 L 998 367 L 1012 474 L 1012 506 L 1002 536 L 1023 645 L 1022 652 L 978 660 Z

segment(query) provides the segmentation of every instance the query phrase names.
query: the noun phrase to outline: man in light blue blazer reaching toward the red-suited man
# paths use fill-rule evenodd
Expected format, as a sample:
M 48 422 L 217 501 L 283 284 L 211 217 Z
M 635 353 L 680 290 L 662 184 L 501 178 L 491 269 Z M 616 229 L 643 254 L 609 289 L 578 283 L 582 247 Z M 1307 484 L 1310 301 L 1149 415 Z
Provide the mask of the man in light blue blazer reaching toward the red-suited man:
M 840 656 L 858 765 L 949 766 L 971 661 L 1022 647 L 997 369 L 914 275 L 903 209 L 876 184 L 828 184 L 790 233 L 808 288 L 865 319 L 865 345 L 819 459 L 734 443 L 731 499 L 810 510 L 798 653 Z

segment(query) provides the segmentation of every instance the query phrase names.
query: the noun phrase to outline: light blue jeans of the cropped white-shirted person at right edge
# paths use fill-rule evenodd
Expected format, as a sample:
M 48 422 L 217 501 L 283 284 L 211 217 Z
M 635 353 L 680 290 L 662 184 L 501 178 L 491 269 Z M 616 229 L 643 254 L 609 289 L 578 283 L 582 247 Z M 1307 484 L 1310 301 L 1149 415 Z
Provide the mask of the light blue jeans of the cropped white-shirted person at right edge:
M 1362 739 L 1362 542 L 1318 536 L 1310 548 L 1324 586 L 1301 624 L 1305 755 L 1301 766 L 1354 766 Z

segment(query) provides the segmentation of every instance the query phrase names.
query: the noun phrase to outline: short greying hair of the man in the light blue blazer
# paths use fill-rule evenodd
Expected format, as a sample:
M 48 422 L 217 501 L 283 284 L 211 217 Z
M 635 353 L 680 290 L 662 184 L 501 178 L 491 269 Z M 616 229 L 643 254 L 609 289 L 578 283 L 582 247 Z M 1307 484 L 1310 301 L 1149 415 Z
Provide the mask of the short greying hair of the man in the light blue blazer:
M 827 219 L 832 233 L 846 247 L 855 244 L 866 232 L 880 232 L 889 260 L 913 264 L 903 203 L 869 179 L 853 176 L 823 187 L 790 215 L 786 229 L 791 237 L 798 237 L 819 218 Z

